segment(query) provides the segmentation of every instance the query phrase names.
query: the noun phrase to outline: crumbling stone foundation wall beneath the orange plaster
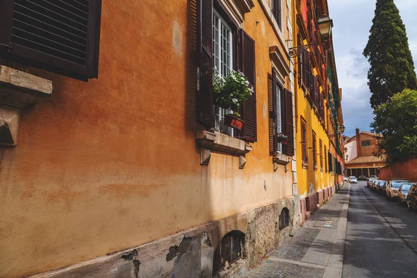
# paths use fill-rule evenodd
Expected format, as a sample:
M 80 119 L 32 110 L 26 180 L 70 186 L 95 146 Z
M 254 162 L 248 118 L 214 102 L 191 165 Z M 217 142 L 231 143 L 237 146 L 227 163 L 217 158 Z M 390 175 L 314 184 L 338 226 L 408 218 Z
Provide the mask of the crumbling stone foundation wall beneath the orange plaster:
M 33 278 L 213 277 L 214 251 L 222 237 L 234 230 L 245 234 L 243 257 L 222 270 L 218 277 L 238 277 L 293 231 L 294 202 L 293 197 L 283 199 L 123 252 L 35 275 Z M 280 231 L 279 215 L 284 207 L 288 208 L 290 221 L 289 226 Z

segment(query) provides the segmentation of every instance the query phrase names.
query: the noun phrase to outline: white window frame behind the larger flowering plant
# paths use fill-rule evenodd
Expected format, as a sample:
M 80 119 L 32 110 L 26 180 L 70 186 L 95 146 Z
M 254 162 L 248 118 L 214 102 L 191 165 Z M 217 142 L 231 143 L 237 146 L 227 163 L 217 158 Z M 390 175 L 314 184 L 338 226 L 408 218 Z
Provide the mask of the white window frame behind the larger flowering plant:
M 215 41 L 215 20 L 218 22 L 218 34 L 217 34 L 217 42 Z M 217 73 L 221 76 L 226 77 L 227 73 L 222 66 L 222 28 L 225 28 L 228 35 L 229 35 L 229 67 L 228 70 L 233 69 L 233 31 L 231 31 L 231 28 L 227 24 L 227 22 L 223 19 L 223 17 L 216 11 L 213 10 L 213 59 L 215 65 L 217 67 Z M 215 42 L 218 44 L 218 56 L 215 56 Z M 216 63 L 218 62 L 218 63 Z M 215 131 L 219 131 L 222 133 L 227 133 L 229 136 L 234 136 L 234 129 L 232 129 L 229 126 L 224 126 L 222 122 L 224 121 L 224 115 L 227 113 L 232 113 L 233 111 L 227 111 L 224 108 L 220 107 L 214 107 L 214 113 L 215 113 Z

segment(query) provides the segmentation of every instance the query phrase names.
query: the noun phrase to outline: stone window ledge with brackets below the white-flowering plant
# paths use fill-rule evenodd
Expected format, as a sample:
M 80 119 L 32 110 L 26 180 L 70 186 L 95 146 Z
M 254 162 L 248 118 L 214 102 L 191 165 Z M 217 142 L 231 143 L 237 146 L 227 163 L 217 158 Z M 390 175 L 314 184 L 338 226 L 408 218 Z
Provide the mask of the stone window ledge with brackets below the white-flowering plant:
M 199 147 L 202 147 L 202 165 L 210 162 L 211 151 L 222 154 L 230 154 L 240 157 L 240 168 L 245 167 L 245 154 L 252 151 L 252 146 L 247 142 L 233 138 L 226 134 L 213 131 L 197 131 L 196 140 Z

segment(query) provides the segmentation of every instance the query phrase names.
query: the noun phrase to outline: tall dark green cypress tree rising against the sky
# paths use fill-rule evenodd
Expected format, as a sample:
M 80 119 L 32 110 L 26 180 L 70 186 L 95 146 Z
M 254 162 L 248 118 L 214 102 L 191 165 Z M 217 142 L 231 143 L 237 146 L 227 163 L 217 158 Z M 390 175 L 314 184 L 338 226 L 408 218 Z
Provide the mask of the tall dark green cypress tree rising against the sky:
M 414 62 L 407 33 L 393 0 L 377 0 L 368 44 L 363 50 L 368 58 L 370 105 L 384 104 L 402 90 L 417 89 Z

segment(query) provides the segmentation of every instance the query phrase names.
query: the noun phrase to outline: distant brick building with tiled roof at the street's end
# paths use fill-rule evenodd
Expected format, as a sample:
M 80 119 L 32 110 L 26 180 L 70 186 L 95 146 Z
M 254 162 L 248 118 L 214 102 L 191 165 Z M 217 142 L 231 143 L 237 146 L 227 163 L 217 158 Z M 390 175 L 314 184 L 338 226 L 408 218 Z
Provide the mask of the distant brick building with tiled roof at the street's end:
M 379 168 L 386 165 L 384 158 L 374 155 L 379 138 L 377 133 L 368 131 L 359 133 L 359 129 L 356 129 L 356 135 L 345 141 L 345 174 L 347 176 L 370 177 L 379 174 Z

